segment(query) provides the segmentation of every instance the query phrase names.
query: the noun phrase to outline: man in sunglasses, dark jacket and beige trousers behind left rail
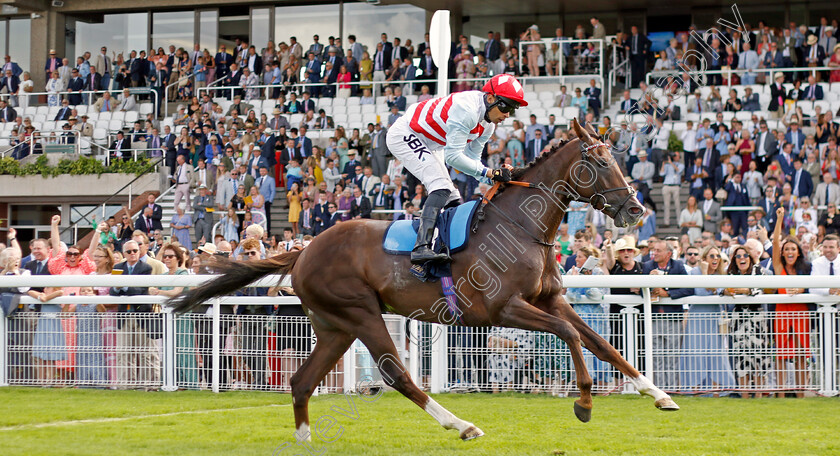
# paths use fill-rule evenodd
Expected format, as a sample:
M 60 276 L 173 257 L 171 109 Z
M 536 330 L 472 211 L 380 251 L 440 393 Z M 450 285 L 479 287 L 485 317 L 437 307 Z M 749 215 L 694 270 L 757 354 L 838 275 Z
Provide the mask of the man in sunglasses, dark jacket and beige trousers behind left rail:
M 123 275 L 151 275 L 152 267 L 140 261 L 140 247 L 136 241 L 123 244 L 125 261 L 114 265 L 114 270 Z M 140 296 L 149 294 L 147 287 L 111 287 L 111 296 Z M 160 375 L 160 355 L 157 354 L 157 342 L 149 337 L 152 325 L 147 320 L 152 312 L 151 304 L 119 304 L 118 313 L 142 313 L 142 318 L 118 318 L 117 333 L 117 381 L 121 385 L 129 382 L 155 382 Z M 159 323 L 159 322 L 155 322 Z M 159 330 L 159 328 L 156 328 Z M 157 366 L 157 369 L 155 368 Z

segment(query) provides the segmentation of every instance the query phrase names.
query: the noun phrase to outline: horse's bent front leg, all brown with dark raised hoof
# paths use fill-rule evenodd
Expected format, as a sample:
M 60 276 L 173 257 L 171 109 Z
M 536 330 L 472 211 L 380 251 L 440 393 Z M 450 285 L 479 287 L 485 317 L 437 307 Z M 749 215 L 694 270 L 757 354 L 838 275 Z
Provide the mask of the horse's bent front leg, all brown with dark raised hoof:
M 589 421 L 592 418 L 592 377 L 589 376 L 583 360 L 578 331 L 568 321 L 543 312 L 518 296 L 510 298 L 499 317 L 500 321 L 494 322 L 497 326 L 547 332 L 566 342 L 574 361 L 575 376 L 580 389 L 580 399 L 575 401 L 575 416 L 584 423 Z

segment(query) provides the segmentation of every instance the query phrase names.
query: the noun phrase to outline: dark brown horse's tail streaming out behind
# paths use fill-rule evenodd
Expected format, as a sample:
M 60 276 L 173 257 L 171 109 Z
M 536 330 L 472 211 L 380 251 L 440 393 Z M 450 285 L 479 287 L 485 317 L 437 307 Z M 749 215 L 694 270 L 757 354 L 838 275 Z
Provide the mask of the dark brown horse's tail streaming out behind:
M 292 270 L 301 252 L 295 250 L 258 261 L 217 262 L 214 268 L 223 272 L 221 276 L 170 299 L 169 305 L 175 312 L 188 312 L 210 299 L 228 295 L 269 274 L 280 274 L 282 280 Z

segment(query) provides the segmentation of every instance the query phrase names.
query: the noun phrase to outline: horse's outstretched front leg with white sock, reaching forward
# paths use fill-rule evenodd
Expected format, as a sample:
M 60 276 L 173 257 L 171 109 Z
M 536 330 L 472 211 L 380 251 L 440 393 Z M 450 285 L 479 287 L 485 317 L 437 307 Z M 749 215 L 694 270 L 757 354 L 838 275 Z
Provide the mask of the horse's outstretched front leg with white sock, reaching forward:
M 542 305 L 540 307 L 543 307 Z M 608 362 L 615 366 L 622 374 L 624 374 L 630 383 L 636 387 L 636 390 L 641 394 L 646 394 L 652 397 L 655 402 L 654 405 L 660 410 L 674 411 L 679 410 L 680 407 L 670 396 L 664 391 L 657 388 L 647 377 L 642 375 L 635 367 L 633 367 L 618 350 L 615 349 L 609 342 L 607 342 L 601 335 L 595 332 L 589 325 L 580 318 L 572 306 L 566 302 L 561 294 L 552 296 L 545 302 L 544 306 L 546 312 L 554 315 L 561 320 L 569 322 L 578 334 L 583 346 L 592 352 L 598 359 Z

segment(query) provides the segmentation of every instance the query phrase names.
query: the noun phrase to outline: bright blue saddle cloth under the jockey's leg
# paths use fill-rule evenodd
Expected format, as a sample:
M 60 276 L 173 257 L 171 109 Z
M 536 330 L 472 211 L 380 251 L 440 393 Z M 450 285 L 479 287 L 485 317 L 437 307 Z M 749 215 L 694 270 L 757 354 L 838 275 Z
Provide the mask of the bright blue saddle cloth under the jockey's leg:
M 470 227 L 478 209 L 478 200 L 466 202 L 460 206 L 446 209 L 437 220 L 438 236 L 433 249 L 439 252 L 448 248 L 449 253 L 464 250 L 469 240 Z M 382 248 L 392 255 L 410 255 L 417 242 L 419 220 L 397 220 L 385 230 Z

